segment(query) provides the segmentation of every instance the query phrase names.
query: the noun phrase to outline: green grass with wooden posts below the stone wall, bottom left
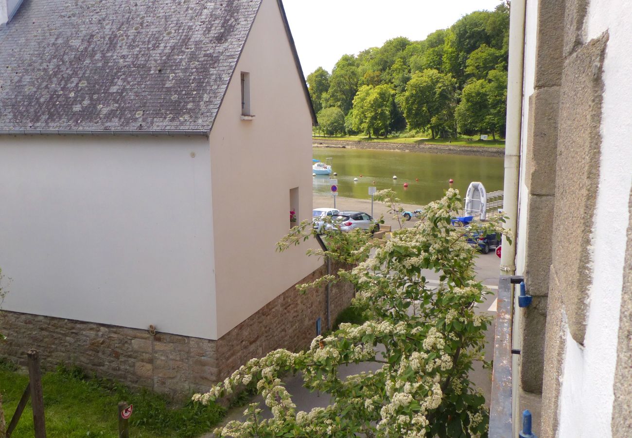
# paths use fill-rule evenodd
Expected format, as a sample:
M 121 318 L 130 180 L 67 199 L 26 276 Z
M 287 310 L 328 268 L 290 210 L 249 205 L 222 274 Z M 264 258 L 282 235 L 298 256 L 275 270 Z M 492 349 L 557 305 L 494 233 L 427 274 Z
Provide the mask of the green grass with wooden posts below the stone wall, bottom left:
M 28 383 L 28 376 L 0 365 L 0 391 L 7 424 Z M 130 391 L 121 384 L 88 378 L 80 370 L 60 368 L 42 377 L 46 432 L 49 437 L 118 436 L 119 401 L 133 404 L 130 436 L 196 437 L 209 432 L 224 416 L 215 404 L 170 403 L 150 391 Z M 31 404 L 22 413 L 12 438 L 33 436 Z

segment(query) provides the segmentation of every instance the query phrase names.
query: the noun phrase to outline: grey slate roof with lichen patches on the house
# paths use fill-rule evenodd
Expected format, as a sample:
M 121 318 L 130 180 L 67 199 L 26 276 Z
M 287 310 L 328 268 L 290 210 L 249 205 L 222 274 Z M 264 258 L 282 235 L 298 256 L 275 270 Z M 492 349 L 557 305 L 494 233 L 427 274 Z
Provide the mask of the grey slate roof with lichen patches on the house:
M 24 0 L 0 26 L 0 131 L 209 132 L 260 3 Z

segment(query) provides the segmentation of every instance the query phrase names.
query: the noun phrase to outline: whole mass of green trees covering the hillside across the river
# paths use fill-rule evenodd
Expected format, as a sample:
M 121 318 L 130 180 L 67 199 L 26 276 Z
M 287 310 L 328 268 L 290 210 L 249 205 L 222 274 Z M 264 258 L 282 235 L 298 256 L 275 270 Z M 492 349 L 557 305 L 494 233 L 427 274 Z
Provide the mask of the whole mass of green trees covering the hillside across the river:
M 509 7 L 475 11 L 423 41 L 397 37 L 307 77 L 322 134 L 504 136 Z

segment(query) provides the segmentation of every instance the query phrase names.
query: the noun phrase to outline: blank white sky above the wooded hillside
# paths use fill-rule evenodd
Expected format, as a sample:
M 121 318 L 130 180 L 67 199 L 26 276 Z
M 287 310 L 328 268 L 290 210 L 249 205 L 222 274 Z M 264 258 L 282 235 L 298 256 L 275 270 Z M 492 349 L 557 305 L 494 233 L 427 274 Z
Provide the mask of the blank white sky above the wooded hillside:
M 425 39 L 461 16 L 493 10 L 501 0 L 284 0 L 303 73 L 327 72 L 343 54 L 379 47 L 394 37 Z

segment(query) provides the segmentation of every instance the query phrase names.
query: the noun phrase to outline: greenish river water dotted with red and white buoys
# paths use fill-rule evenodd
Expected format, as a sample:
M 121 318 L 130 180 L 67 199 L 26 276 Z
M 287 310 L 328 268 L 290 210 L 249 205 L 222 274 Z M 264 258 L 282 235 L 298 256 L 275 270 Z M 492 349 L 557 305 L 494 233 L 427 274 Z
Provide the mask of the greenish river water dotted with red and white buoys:
M 480 181 L 487 192 L 502 190 L 504 159 L 456 154 L 427 154 L 405 151 L 373 151 L 370 149 L 313 149 L 313 158 L 325 161 L 331 157 L 333 172 L 337 172 L 339 196 L 370 199 L 368 187 L 393 189 L 404 204 L 422 206 L 443 196 L 454 180 L 453 187 L 461 196 L 472 181 Z M 360 177 L 362 175 L 362 177 Z M 398 178 L 394 180 L 392 177 Z M 327 175 L 313 178 L 314 194 L 331 194 Z M 357 182 L 353 178 L 358 178 Z M 404 182 L 408 187 L 404 187 Z

